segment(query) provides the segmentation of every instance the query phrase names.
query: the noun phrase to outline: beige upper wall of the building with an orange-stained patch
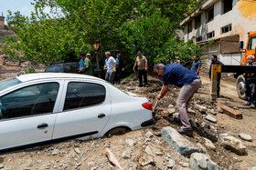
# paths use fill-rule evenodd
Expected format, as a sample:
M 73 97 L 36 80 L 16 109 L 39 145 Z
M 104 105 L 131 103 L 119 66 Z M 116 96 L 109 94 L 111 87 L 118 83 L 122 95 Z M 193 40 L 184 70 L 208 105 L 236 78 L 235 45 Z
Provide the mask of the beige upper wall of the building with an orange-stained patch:
M 226 14 L 222 12 L 222 1 L 214 4 L 214 19 L 206 23 L 206 12 L 201 13 L 201 26 L 195 30 L 195 19 L 192 20 L 193 30 L 187 34 L 185 25 L 184 41 L 202 36 L 202 40 L 207 40 L 207 34 L 214 31 L 215 37 L 225 37 L 229 35 L 240 35 L 240 41 L 246 42 L 247 33 L 256 30 L 256 3 L 245 0 L 233 0 L 233 8 Z M 221 34 L 221 27 L 232 25 L 232 30 L 226 34 Z

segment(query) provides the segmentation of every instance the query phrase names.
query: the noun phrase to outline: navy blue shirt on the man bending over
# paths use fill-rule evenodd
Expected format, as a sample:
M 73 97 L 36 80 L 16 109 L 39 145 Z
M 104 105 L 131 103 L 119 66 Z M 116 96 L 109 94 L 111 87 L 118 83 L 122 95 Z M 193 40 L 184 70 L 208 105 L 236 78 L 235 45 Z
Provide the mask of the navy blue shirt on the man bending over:
M 198 75 L 185 66 L 176 63 L 164 67 L 164 85 L 183 86 L 192 83 Z

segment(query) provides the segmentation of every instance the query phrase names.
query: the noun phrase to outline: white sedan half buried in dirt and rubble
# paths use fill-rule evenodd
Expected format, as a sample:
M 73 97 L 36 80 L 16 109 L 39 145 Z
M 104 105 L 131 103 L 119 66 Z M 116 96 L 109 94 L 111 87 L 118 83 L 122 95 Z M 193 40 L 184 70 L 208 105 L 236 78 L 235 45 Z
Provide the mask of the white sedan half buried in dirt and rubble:
M 90 75 L 29 74 L 0 82 L 0 151 L 151 127 L 152 104 Z

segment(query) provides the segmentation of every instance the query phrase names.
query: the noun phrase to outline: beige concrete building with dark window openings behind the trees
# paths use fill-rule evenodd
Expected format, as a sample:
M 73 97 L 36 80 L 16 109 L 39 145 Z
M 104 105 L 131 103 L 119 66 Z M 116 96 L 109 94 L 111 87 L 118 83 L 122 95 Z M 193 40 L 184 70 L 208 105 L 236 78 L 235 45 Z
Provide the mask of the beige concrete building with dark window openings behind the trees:
M 239 44 L 246 45 L 247 33 L 256 30 L 255 0 L 206 0 L 180 25 L 185 27 L 184 41 L 205 45 L 205 54 L 218 55 L 225 65 L 240 65 Z M 208 61 L 209 64 L 209 61 Z

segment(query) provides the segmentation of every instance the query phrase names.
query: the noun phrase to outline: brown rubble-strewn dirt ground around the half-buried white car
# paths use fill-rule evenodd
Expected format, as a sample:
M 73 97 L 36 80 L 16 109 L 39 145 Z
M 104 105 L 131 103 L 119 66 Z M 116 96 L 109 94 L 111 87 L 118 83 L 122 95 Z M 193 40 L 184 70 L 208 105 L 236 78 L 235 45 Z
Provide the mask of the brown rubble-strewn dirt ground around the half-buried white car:
M 15 76 L 22 71 L 16 66 L 0 67 L 0 78 Z M 205 122 L 212 125 L 213 129 L 204 131 L 195 130 L 193 137 L 185 136 L 193 144 L 205 146 L 211 160 L 216 162 L 221 169 L 250 169 L 256 166 L 256 134 L 255 120 L 256 109 L 242 105 L 236 93 L 235 79 L 230 75 L 223 75 L 221 91 L 218 102 L 229 105 L 240 113 L 243 118 L 238 120 L 229 115 L 217 113 L 212 115 L 218 120 L 217 124 L 208 122 L 196 105 L 205 105 L 208 109 L 214 108 L 210 101 L 210 81 L 208 70 L 201 73 L 202 87 L 193 96 L 189 104 L 188 117 L 194 118 L 199 124 Z M 130 92 L 138 96 L 145 96 L 155 104 L 155 96 L 160 92 L 162 81 L 156 75 L 148 75 L 149 87 L 138 87 L 138 80 L 134 76 L 123 80 L 121 85 L 116 85 L 124 92 Z M 0 154 L 0 169 L 110 169 L 105 156 L 105 148 L 112 150 L 124 169 L 189 169 L 189 157 L 174 152 L 162 139 L 161 129 L 165 126 L 178 128 L 179 125 L 169 122 L 166 117 L 170 111 L 176 110 L 176 98 L 180 88 L 170 85 L 169 91 L 159 102 L 155 110 L 155 125 L 150 129 L 130 132 L 124 135 L 114 135 L 109 138 L 95 139 L 91 141 L 72 140 L 51 145 L 42 145 L 27 148 L 11 153 Z M 176 110 L 177 112 L 177 110 Z M 152 132 L 153 136 L 148 136 Z M 228 133 L 239 138 L 240 133 L 251 135 L 252 142 L 242 141 L 246 145 L 246 155 L 236 155 L 223 148 L 219 141 L 219 134 Z M 216 146 L 211 150 L 204 143 L 204 137 L 210 139 Z M 132 143 L 132 144 L 131 144 Z M 146 148 L 150 147 L 153 154 L 148 154 Z M 57 152 L 58 151 L 58 152 Z M 128 154 L 127 154 L 128 153 Z M 124 156 L 126 154 L 126 156 Z M 149 161 L 153 159 L 154 161 Z M 170 159 L 175 161 L 171 166 Z M 149 161 L 147 165 L 143 160 Z

